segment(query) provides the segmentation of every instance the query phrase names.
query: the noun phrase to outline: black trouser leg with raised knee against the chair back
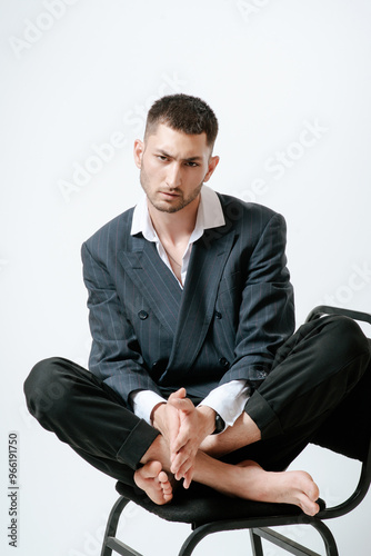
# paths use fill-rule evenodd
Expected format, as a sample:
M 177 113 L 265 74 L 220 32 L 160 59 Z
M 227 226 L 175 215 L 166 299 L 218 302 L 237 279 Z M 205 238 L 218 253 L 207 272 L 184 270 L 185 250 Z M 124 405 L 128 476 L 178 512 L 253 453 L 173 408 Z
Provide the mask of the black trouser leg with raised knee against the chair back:
M 321 426 L 330 423 L 333 411 L 347 407 L 352 389 L 358 384 L 358 389 L 362 388 L 369 361 L 368 339 L 352 319 L 324 317 L 300 327 L 278 351 L 272 371 L 245 406 L 262 440 L 238 450 L 228 460 L 243 456 L 267 468 L 288 466 Z M 368 380 L 364 378 L 365 385 Z M 359 457 L 369 437 L 362 436 L 353 417 L 350 411 L 353 436 L 338 435 L 337 450 Z

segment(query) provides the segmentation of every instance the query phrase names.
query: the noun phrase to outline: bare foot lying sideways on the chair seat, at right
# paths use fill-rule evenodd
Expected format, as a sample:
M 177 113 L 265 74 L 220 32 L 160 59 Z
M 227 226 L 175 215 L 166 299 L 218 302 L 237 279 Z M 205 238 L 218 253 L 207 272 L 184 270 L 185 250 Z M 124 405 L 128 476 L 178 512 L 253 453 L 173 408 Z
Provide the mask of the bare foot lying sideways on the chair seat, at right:
M 293 504 L 309 516 L 320 509 L 315 503 L 319 488 L 305 471 L 265 471 L 254 461 L 241 461 L 234 468 L 234 485 L 224 484 L 225 494 L 249 500 Z

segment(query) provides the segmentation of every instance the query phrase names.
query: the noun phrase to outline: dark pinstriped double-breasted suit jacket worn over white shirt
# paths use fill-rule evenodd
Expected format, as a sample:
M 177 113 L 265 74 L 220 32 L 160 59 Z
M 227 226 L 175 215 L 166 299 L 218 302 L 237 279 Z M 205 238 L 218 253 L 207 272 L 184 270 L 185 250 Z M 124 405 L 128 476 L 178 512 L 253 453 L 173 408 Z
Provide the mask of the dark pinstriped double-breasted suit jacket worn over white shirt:
M 259 381 L 293 332 L 284 219 L 219 198 L 225 225 L 194 242 L 183 290 L 156 244 L 130 235 L 133 209 L 82 246 L 89 367 L 127 403 L 138 389 L 203 398 L 235 378 Z

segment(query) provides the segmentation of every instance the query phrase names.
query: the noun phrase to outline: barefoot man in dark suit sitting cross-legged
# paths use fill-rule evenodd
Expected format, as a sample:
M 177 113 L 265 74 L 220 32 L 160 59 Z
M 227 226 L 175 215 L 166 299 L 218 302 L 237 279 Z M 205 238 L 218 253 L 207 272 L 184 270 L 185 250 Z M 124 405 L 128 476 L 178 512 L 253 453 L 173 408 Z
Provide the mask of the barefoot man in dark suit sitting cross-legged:
M 146 195 L 82 246 L 90 373 L 41 361 L 26 381 L 29 409 L 157 504 L 183 479 L 314 515 L 315 483 L 284 469 L 311 440 L 361 457 L 369 429 L 337 436 L 333 423 L 357 416 L 369 342 L 343 317 L 293 334 L 284 220 L 203 185 L 217 133 L 198 98 L 152 106 L 134 142 Z

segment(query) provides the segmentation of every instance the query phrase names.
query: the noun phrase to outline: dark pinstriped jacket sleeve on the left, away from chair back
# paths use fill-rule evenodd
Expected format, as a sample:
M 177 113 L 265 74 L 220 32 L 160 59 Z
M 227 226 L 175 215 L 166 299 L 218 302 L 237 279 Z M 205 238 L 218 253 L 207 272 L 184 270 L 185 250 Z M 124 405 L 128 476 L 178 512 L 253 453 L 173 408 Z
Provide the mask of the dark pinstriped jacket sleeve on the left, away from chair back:
M 161 395 L 146 368 L 133 327 L 104 264 L 94 259 L 87 244 L 82 245 L 81 257 L 92 336 L 90 371 L 119 394 L 127 405 L 134 390 Z

